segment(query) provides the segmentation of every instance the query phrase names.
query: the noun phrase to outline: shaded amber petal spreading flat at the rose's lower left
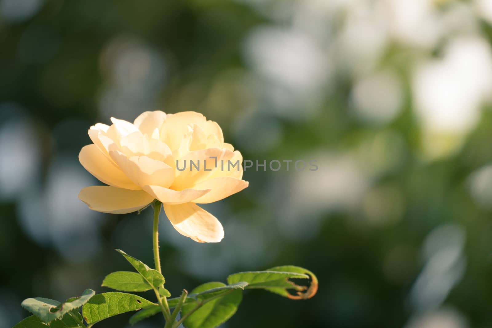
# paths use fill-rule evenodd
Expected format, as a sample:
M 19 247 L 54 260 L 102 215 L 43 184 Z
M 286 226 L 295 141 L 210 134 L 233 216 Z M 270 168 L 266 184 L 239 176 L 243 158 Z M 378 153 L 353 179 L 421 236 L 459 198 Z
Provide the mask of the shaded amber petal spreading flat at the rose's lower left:
M 143 190 L 92 186 L 82 189 L 79 193 L 79 199 L 92 210 L 123 214 L 145 207 L 154 200 L 154 197 Z

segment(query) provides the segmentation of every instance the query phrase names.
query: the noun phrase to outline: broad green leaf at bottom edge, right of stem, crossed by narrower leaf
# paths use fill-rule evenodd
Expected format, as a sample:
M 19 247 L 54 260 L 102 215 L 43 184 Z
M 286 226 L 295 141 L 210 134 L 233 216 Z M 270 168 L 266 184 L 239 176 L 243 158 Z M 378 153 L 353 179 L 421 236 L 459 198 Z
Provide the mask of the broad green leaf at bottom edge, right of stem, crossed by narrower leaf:
M 201 294 L 216 288 L 226 287 L 221 282 L 209 282 L 198 286 L 191 294 Z M 214 328 L 227 321 L 236 313 L 239 303 L 243 298 L 241 288 L 229 289 L 201 302 L 203 305 L 184 320 L 186 328 Z M 192 311 L 198 304 L 185 304 L 182 309 L 182 317 Z

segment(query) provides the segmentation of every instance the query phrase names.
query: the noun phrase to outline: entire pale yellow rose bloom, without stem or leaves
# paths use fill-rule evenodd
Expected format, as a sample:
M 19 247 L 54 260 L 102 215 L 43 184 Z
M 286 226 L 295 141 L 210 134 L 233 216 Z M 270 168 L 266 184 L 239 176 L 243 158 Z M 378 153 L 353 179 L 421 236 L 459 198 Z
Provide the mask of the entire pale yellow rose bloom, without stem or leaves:
M 111 126 L 91 126 L 94 144 L 79 154 L 84 168 L 108 185 L 86 187 L 79 199 L 106 213 L 133 212 L 157 199 L 180 234 L 199 242 L 220 241 L 222 225 L 196 204 L 216 202 L 248 186 L 242 179 L 243 157 L 224 143 L 220 126 L 195 112 L 145 112 L 133 124 L 111 121 Z

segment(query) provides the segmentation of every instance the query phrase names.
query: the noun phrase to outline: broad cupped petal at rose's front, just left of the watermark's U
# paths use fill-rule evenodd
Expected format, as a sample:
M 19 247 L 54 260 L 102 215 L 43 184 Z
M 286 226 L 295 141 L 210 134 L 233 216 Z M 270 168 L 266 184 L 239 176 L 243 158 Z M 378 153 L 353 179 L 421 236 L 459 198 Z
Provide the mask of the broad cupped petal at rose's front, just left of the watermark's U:
M 123 173 L 134 183 L 169 187 L 174 180 L 174 169 L 169 165 L 147 156 L 126 157 L 119 150 L 110 150 L 109 155 Z

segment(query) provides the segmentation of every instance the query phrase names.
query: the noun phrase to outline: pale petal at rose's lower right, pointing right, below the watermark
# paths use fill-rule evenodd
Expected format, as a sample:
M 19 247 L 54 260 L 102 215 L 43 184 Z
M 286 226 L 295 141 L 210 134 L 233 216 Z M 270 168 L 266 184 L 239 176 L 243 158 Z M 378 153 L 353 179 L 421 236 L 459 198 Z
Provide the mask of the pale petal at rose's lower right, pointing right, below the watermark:
M 193 202 L 198 204 L 214 203 L 237 192 L 240 192 L 248 186 L 249 182 L 231 177 L 212 178 L 196 184 L 193 189 L 212 189 L 212 191 L 195 199 Z

